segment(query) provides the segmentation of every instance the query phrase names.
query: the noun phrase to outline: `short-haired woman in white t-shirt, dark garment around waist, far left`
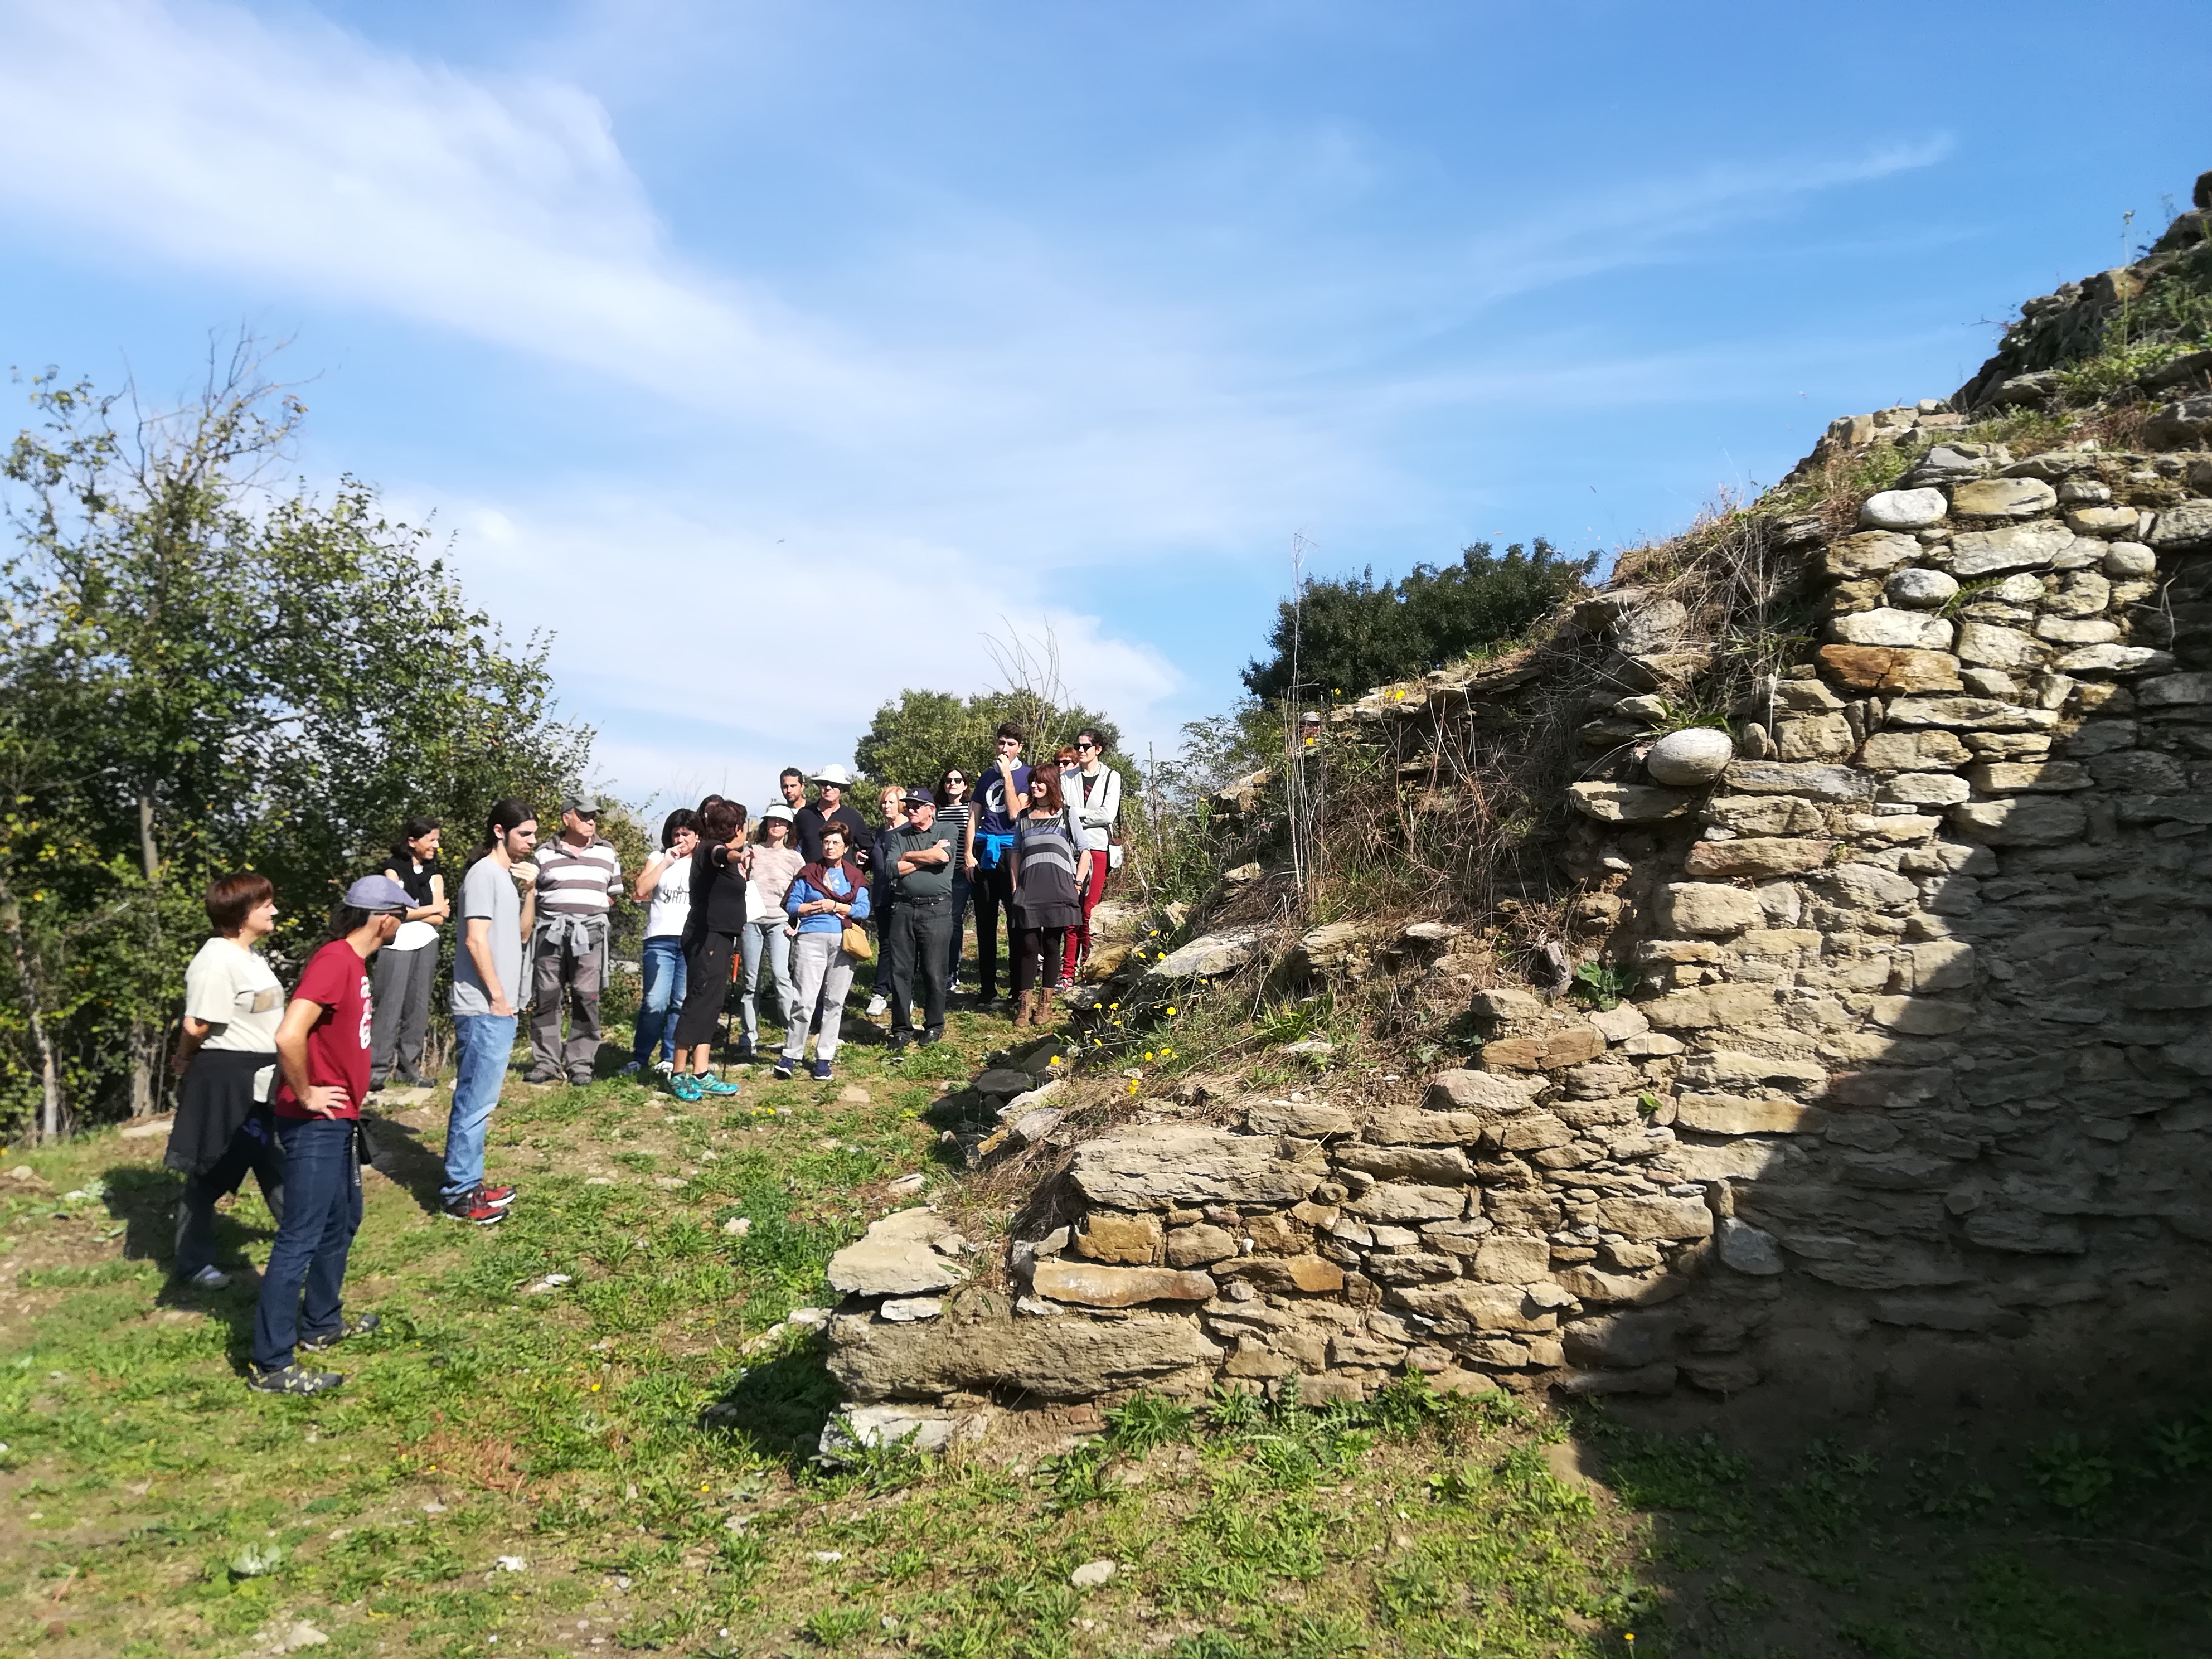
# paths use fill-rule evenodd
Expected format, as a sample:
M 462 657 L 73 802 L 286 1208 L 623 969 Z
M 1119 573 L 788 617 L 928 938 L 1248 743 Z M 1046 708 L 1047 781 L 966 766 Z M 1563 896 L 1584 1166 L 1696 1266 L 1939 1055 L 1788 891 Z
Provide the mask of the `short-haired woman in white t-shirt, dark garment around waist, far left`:
M 283 987 L 254 949 L 276 927 L 276 889 L 252 872 L 223 876 L 208 887 L 208 922 L 215 938 L 184 971 L 184 1040 L 170 1062 L 184 1082 L 161 1161 L 184 1175 L 177 1274 L 221 1290 L 230 1274 L 215 1265 L 217 1199 L 252 1170 L 270 1217 L 283 1221 L 283 1152 L 270 1113 Z

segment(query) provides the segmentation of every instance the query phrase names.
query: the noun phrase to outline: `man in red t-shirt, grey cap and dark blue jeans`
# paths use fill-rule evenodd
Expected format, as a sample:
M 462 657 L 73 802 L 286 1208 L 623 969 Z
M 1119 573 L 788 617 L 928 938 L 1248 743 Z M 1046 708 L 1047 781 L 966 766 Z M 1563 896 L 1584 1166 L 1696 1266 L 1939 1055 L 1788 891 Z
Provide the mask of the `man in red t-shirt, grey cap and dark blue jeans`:
M 276 1144 L 285 1206 L 254 1310 L 246 1385 L 263 1394 L 321 1394 L 345 1378 L 292 1356 L 376 1329 L 376 1314 L 345 1318 L 345 1259 L 361 1228 L 361 1097 L 369 1093 L 369 958 L 398 933 L 414 900 L 389 876 L 363 876 L 330 918 L 330 940 L 307 960 L 276 1026 Z M 305 1287 L 305 1316 L 301 1290 Z M 303 1329 L 305 1327 L 305 1329 Z

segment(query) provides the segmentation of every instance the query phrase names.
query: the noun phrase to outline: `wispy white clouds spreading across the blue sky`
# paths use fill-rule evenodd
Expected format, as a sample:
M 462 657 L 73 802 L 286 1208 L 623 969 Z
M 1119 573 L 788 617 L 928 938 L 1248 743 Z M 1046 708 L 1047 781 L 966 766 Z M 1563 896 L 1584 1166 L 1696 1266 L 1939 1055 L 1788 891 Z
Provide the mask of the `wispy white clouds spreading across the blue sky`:
M 978 635 L 1002 617 L 1051 619 L 1071 692 L 1166 734 L 1221 664 L 1115 637 L 1066 571 L 1241 557 L 1301 522 L 1363 526 L 1347 542 L 1427 526 L 1449 487 L 1400 440 L 1438 411 L 1659 403 L 1710 363 L 1586 341 L 1429 356 L 1425 338 L 1936 155 L 1628 175 L 1537 217 L 1425 232 L 1420 257 L 1329 228 L 1276 261 L 1270 215 L 1358 197 L 1405 161 L 1316 119 L 1241 133 L 1161 215 L 1082 234 L 938 192 L 902 241 L 869 246 L 869 299 L 902 303 L 825 316 L 672 246 L 606 108 L 566 80 L 462 73 L 215 0 L 0 0 L 18 239 L 573 365 L 584 418 L 690 431 L 626 498 L 493 487 L 469 456 L 396 491 L 442 504 L 480 602 L 557 630 L 566 703 L 608 730 L 608 779 L 633 794 L 752 796 L 794 752 L 845 759 L 898 688 L 987 684 Z M 1239 239 L 1250 263 L 1183 263 Z M 1192 270 L 1208 292 L 1177 288 Z M 741 500 L 728 456 L 745 458 Z

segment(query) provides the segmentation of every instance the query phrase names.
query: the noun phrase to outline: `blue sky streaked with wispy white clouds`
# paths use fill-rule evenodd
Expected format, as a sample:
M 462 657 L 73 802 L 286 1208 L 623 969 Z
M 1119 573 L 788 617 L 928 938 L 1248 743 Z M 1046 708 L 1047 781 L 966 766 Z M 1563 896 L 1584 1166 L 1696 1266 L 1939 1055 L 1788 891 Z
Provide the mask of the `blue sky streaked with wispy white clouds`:
M 292 336 L 310 478 L 624 796 L 1051 630 L 1170 748 L 1290 580 L 1615 549 L 1951 392 L 2212 166 L 2201 0 L 0 0 L 0 352 Z

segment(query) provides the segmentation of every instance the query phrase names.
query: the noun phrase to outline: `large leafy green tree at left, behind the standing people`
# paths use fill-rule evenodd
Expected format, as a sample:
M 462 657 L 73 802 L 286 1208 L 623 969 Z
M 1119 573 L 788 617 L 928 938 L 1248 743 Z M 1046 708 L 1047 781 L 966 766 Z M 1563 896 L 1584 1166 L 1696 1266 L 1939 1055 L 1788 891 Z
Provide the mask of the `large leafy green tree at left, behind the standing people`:
M 411 814 L 473 838 L 591 732 L 374 491 L 270 484 L 303 405 L 241 338 L 199 396 L 31 383 L 0 560 L 0 1119 L 150 1110 L 210 874 L 254 867 L 310 940 Z

